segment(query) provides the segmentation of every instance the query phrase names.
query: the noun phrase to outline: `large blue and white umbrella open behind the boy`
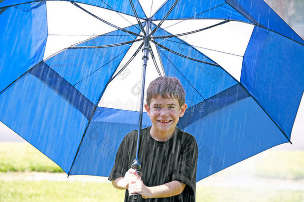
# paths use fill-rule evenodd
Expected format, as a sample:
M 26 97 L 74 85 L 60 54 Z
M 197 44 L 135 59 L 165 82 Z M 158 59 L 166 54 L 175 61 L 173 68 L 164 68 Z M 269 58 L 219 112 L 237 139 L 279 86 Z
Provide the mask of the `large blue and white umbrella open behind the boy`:
M 0 29 L 0 121 L 68 175 L 110 174 L 158 76 L 185 88 L 197 181 L 291 142 L 304 40 L 263 0 L 4 0 Z

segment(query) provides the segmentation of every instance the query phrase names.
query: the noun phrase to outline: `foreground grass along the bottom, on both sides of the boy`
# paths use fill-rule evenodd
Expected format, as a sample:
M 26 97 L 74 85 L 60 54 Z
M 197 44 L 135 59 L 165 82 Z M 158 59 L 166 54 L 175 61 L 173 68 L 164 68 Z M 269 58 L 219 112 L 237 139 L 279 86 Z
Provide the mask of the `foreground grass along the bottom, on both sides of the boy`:
M 0 181 L 0 202 L 121 202 L 125 191 L 93 182 Z M 198 187 L 197 202 L 303 202 L 304 192 Z

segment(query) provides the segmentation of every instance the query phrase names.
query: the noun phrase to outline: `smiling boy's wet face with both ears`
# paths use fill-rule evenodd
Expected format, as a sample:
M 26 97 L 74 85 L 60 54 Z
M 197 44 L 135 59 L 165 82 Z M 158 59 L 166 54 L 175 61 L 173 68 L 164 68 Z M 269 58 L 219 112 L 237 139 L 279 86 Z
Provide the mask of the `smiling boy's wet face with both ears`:
M 156 98 L 152 98 L 150 106 L 146 104 L 145 108 L 155 132 L 173 133 L 179 117 L 184 115 L 187 105 L 183 104 L 179 107 L 177 99 L 162 98 L 158 95 Z

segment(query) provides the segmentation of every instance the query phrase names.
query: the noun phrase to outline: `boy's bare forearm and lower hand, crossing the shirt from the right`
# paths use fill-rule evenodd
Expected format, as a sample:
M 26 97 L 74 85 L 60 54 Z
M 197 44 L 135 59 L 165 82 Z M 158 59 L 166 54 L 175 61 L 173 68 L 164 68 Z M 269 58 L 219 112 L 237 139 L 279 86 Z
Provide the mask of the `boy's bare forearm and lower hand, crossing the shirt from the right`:
M 137 193 L 142 195 L 144 199 L 165 198 L 179 195 L 185 186 L 179 181 L 172 181 L 155 187 L 147 187 L 143 181 L 132 180 L 129 184 L 129 194 Z

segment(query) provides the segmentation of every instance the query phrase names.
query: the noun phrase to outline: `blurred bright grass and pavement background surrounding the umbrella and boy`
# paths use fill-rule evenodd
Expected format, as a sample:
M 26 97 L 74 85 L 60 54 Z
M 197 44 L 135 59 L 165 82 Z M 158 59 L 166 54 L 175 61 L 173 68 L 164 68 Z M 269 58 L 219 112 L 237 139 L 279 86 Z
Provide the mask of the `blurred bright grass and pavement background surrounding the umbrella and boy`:
M 265 0 L 304 38 L 304 0 Z M 303 202 L 304 101 L 290 143 L 197 183 L 197 202 Z M 0 202 L 124 199 L 106 177 L 70 176 L 0 122 Z

